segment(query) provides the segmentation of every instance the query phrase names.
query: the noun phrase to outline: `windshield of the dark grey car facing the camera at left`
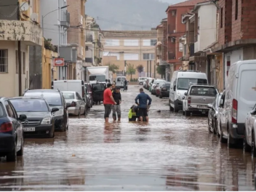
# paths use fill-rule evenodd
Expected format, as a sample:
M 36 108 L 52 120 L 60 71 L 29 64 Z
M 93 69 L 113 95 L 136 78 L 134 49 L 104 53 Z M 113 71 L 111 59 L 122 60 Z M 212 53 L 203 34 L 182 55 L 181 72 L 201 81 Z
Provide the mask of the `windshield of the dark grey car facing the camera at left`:
M 49 108 L 44 100 L 20 99 L 10 100 L 17 112 L 48 112 Z

